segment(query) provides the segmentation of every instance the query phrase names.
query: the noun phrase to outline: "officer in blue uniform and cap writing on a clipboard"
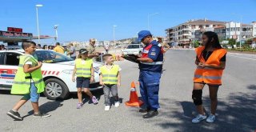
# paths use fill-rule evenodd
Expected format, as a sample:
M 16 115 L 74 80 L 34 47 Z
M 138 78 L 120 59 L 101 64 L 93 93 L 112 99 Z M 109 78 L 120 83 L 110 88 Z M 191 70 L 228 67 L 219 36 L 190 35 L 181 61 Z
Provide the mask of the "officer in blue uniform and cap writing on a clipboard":
M 158 115 L 158 91 L 162 72 L 163 49 L 161 44 L 153 40 L 149 30 L 138 33 L 138 42 L 145 44 L 142 56 L 138 58 L 139 83 L 142 100 L 146 109 L 139 112 L 146 113 L 143 118 L 153 118 Z

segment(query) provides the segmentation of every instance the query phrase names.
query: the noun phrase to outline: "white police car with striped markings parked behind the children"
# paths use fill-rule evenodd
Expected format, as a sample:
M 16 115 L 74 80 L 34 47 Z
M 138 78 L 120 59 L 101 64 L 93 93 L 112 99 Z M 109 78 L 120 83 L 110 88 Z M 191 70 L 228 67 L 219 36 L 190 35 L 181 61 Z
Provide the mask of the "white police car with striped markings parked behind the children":
M 10 90 L 18 70 L 19 56 L 24 50 L 0 51 L 0 90 Z M 49 99 L 64 99 L 70 93 L 77 92 L 76 82 L 72 82 L 74 60 L 52 50 L 36 50 L 34 58 L 42 64 L 42 76 L 46 84 L 44 94 Z M 101 62 L 94 62 L 94 82 L 90 90 L 102 89 L 99 85 L 98 70 Z

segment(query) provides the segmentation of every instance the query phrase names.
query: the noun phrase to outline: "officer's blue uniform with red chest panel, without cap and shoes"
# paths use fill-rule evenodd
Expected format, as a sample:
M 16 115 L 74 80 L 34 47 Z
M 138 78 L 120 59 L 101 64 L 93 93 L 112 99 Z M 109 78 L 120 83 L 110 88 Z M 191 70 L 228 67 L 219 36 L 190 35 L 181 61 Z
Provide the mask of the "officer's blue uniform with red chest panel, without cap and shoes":
M 151 58 L 154 62 L 139 64 L 140 74 L 140 92 L 142 100 L 151 110 L 158 110 L 158 91 L 162 72 L 163 54 L 161 45 L 153 41 L 145 46 L 142 52 L 142 58 Z

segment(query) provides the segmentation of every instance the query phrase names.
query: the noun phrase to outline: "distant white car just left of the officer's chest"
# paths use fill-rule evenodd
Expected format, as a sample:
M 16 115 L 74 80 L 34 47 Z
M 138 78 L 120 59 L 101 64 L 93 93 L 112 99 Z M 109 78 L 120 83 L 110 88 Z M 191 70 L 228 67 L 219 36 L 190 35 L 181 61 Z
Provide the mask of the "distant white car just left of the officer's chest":
M 127 54 L 142 54 L 143 46 L 142 44 L 130 44 L 127 46 L 125 50 L 122 50 L 122 54 L 127 55 Z

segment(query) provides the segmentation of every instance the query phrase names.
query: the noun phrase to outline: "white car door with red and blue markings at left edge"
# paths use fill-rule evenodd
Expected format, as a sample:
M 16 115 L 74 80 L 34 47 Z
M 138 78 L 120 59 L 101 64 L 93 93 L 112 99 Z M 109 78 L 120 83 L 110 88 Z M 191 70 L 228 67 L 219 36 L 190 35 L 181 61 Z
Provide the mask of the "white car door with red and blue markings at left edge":
M 5 52 L 2 54 L 1 60 L 1 82 L 0 82 L 0 89 L 10 89 L 13 82 L 16 71 L 18 70 L 18 63 L 19 63 L 19 56 L 16 52 Z M 1 61 L 0 61 L 1 62 Z

